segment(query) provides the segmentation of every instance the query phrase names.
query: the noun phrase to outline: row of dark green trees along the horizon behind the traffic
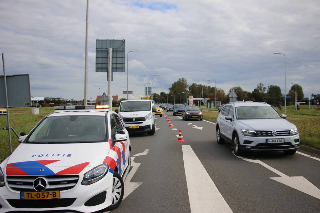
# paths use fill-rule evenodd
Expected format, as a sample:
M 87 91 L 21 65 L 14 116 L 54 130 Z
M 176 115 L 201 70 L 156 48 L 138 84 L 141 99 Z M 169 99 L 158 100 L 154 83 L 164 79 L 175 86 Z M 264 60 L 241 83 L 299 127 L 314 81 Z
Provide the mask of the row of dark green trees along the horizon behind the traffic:
M 257 84 L 256 88 L 252 92 L 243 90 L 240 86 L 234 86 L 229 89 L 226 93 L 222 88 L 217 88 L 217 101 L 221 101 L 221 104 L 226 104 L 229 102 L 229 94 L 232 89 L 237 94 L 237 100 L 250 100 L 250 101 L 263 101 L 272 106 L 279 106 L 284 105 L 284 94 L 282 93 L 280 87 L 278 85 L 268 85 L 267 87 L 264 86 L 263 83 Z M 210 101 L 215 101 L 215 93 L 216 88 L 213 86 L 207 86 L 203 84 L 196 84 L 192 83 L 188 85 L 187 79 L 179 78 L 177 81 L 172 83 L 172 86 L 168 88 L 169 93 L 160 92 L 153 93 L 153 97 L 155 102 L 159 103 L 181 103 L 186 102 L 186 98 L 189 97 L 190 91 L 194 98 L 202 98 L 202 91 L 203 97 L 209 98 Z M 296 94 L 296 85 L 292 84 L 289 93 L 286 96 L 290 96 L 287 98 L 287 105 L 294 105 L 295 103 L 295 94 Z M 312 94 L 315 99 L 319 99 L 320 94 Z M 304 99 L 304 94 L 302 87 L 297 84 L 297 100 Z

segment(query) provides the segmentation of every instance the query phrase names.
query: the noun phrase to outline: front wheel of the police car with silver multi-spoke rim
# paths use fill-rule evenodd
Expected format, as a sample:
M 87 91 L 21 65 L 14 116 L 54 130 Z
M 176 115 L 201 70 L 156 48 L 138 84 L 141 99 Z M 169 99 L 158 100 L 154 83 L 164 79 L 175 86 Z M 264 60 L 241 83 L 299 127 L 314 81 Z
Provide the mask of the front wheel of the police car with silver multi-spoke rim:
M 108 206 L 106 209 L 107 210 L 113 210 L 116 209 L 123 198 L 124 194 L 124 183 L 121 178 L 121 176 L 117 173 L 113 173 L 113 185 L 112 185 L 112 204 Z

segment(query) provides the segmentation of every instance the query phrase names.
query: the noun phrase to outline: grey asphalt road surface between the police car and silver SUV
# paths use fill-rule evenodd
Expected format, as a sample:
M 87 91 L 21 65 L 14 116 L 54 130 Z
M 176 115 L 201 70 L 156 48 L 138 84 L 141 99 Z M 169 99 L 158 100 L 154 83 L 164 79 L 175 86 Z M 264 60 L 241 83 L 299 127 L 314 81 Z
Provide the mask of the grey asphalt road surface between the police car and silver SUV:
M 216 142 L 215 124 L 184 121 L 172 113 L 169 116 L 172 128 L 163 116 L 157 117 L 159 129 L 154 136 L 130 135 L 132 156 L 149 149 L 146 155 L 133 159 L 140 166 L 130 182 L 142 184 L 112 212 L 191 212 L 199 206 L 205 209 L 211 205 L 202 200 L 220 195 L 224 200 L 217 198 L 218 204 L 212 202 L 216 212 L 222 211 L 216 207 L 224 205 L 223 202 L 231 209 L 225 212 L 320 212 L 320 156 L 298 150 L 307 156 L 252 152 L 238 158 L 233 155 L 230 143 Z M 177 142 L 179 129 L 184 142 Z M 187 149 L 191 154 L 186 154 Z M 192 164 L 189 168 L 197 159 L 200 160 L 197 166 Z M 257 161 L 250 162 L 252 160 Z M 190 171 L 195 176 L 191 177 Z M 204 173 L 210 178 L 205 178 Z M 271 179 L 276 177 L 278 179 Z M 208 188 L 211 191 L 208 192 Z M 194 202 L 197 199 L 199 202 Z

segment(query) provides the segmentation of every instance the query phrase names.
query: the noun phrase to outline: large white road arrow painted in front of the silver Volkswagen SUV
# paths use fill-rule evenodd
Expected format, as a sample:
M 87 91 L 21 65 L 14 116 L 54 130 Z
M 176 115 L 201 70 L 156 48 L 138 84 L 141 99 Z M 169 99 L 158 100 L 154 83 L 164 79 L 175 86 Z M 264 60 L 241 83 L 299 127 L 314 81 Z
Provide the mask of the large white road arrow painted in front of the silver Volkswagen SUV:
M 234 153 L 234 151 L 232 151 L 232 153 Z M 287 185 L 289 187 L 297 189 L 300 192 L 306 193 L 308 195 L 311 195 L 315 198 L 320 199 L 320 189 L 318 189 L 315 185 L 310 183 L 304 177 L 302 177 L 302 176 L 289 177 L 289 176 L 285 175 L 284 173 L 276 170 L 275 168 L 272 168 L 271 166 L 263 163 L 260 160 L 252 160 L 252 159 L 244 158 L 241 156 L 236 156 L 236 157 L 241 158 L 242 160 L 245 160 L 245 161 L 260 164 L 260 165 L 266 167 L 267 169 L 271 170 L 272 172 L 276 173 L 277 175 L 281 176 L 281 177 L 271 178 L 272 180 L 276 180 L 279 183 L 283 183 L 284 185 Z

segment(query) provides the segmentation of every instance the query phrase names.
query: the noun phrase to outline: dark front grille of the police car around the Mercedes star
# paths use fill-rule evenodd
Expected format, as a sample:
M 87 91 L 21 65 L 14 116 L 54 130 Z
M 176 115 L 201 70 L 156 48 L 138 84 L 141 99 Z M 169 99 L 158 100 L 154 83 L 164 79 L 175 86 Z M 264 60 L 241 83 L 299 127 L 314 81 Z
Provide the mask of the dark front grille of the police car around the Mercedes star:
M 45 191 L 49 190 L 67 190 L 76 186 L 79 180 L 79 175 L 28 175 L 28 176 L 7 176 L 9 187 L 17 191 L 30 191 L 35 192 L 33 188 L 33 181 L 38 177 L 44 177 L 48 180 L 48 187 Z

